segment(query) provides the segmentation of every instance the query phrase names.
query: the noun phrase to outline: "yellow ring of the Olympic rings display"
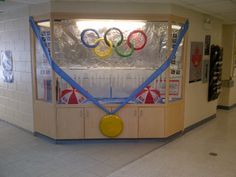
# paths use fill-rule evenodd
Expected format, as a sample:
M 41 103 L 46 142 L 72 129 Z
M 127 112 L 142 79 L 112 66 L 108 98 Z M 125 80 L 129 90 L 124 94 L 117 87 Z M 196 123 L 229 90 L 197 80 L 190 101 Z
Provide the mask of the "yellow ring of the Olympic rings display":
M 97 45 L 95 48 L 94 48 L 94 53 L 101 59 L 106 59 L 108 58 L 109 56 L 112 55 L 112 42 L 110 40 L 107 40 L 108 41 L 108 49 L 105 50 L 105 51 L 101 51 L 100 50 L 100 47 L 99 47 L 99 43 L 101 41 L 105 41 L 104 38 L 98 38 L 96 41 L 95 41 L 95 45 Z

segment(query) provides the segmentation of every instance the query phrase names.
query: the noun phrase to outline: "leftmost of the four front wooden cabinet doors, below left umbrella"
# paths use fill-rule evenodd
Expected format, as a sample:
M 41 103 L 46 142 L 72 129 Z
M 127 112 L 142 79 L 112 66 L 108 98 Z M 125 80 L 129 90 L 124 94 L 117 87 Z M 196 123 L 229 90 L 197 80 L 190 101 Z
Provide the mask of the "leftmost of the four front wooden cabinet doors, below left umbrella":
M 83 108 L 57 108 L 57 139 L 83 139 L 83 115 Z

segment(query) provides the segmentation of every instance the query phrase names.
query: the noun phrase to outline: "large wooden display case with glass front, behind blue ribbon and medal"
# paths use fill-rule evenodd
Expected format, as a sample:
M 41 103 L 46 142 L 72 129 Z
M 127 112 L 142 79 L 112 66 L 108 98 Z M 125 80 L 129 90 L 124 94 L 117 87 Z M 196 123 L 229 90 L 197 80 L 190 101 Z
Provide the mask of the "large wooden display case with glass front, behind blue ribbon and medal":
M 53 14 L 36 19 L 54 62 L 108 110 L 122 104 L 167 60 L 185 20 Z M 55 139 L 106 138 L 98 125 L 105 113 L 54 73 L 35 38 L 33 43 L 35 131 Z M 160 138 L 182 130 L 184 43 L 170 67 L 117 113 L 125 122 L 117 138 Z M 47 110 L 50 117 L 39 113 Z M 152 124 L 160 125 L 152 129 Z

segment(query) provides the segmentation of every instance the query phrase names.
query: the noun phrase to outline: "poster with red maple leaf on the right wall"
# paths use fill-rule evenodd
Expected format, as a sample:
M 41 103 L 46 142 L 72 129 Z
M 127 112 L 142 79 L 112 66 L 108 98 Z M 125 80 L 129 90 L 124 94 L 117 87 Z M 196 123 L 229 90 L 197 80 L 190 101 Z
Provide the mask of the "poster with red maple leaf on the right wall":
M 203 42 L 191 42 L 189 83 L 201 80 L 202 55 Z

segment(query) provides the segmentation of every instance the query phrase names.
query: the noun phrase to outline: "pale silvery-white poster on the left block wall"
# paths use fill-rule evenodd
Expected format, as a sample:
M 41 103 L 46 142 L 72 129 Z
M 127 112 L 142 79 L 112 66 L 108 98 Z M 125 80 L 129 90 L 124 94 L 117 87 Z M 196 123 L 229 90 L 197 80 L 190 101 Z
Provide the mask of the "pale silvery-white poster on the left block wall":
M 13 75 L 13 59 L 10 50 L 1 51 L 1 77 L 4 82 L 12 83 L 14 81 Z

